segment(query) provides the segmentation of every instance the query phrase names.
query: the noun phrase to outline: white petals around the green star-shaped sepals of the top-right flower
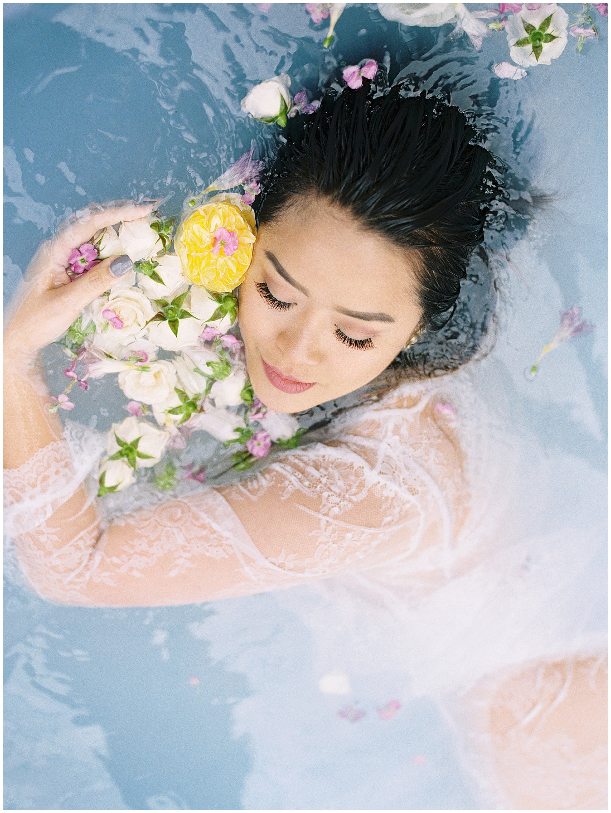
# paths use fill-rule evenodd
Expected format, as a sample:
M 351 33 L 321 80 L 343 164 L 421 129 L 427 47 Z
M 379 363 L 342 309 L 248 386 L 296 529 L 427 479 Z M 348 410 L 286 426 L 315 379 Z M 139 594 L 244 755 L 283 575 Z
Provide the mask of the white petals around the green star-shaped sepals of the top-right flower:
M 526 33 L 524 23 L 534 25 L 535 28 L 538 29 L 539 25 L 550 15 L 552 15 L 552 20 L 550 20 L 548 28 L 542 36 L 551 34 L 552 37 L 557 37 L 557 39 L 551 42 L 540 43 L 542 50 L 539 54 L 539 59 L 535 56 L 531 42 L 526 46 L 516 46 L 516 42 L 522 40 L 524 37 L 531 36 Z M 566 27 L 568 24 L 569 15 L 564 9 L 558 7 L 556 3 L 541 3 L 536 11 L 528 11 L 526 6 L 522 6 L 522 11 L 518 14 L 512 14 L 505 26 L 511 59 L 513 59 L 514 63 L 522 65 L 522 67 L 549 65 L 552 59 L 557 59 L 562 51 L 565 50 L 567 41 Z

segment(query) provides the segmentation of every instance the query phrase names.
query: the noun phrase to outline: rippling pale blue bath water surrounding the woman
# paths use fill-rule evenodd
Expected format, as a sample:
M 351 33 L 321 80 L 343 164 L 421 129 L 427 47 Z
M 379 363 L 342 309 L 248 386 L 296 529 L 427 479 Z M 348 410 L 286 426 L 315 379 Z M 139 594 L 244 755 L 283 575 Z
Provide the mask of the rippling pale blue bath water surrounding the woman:
M 563 7 L 572 16 L 581 5 Z M 340 63 L 366 57 L 392 76 L 408 67 L 427 87 L 446 72 L 454 102 L 496 116 L 501 157 L 555 195 L 539 253 L 511 275 L 498 355 L 527 428 L 550 454 L 565 450 L 604 477 L 606 20 L 582 54 L 569 37 L 560 59 L 512 82 L 491 72 L 509 59 L 504 34 L 474 51 L 449 26 L 400 28 L 375 4 L 346 9 L 331 50 L 302 4 L 267 14 L 241 4 L 4 10 L 5 302 L 58 218 L 155 193 L 176 213 L 252 139 L 269 138 L 240 111 L 255 81 L 288 72 L 294 91 L 315 96 Z M 526 381 L 558 312 L 574 304 L 596 331 Z M 58 363 L 50 381 L 63 389 Z M 76 395 L 72 417 L 87 420 L 88 393 Z M 98 428 L 124 416 L 117 405 L 99 402 Z M 338 718 L 319 692 L 310 633 L 280 593 L 105 610 L 54 606 L 8 580 L 4 597 L 6 809 L 474 804 L 426 698 L 384 723 Z

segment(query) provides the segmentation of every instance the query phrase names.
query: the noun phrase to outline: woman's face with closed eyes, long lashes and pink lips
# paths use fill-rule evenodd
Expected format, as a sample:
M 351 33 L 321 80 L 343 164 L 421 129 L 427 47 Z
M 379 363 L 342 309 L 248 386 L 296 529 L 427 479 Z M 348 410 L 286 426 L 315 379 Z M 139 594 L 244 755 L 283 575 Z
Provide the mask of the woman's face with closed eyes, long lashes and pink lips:
M 422 315 L 405 252 L 308 200 L 262 225 L 240 289 L 254 392 L 299 412 L 378 376 Z

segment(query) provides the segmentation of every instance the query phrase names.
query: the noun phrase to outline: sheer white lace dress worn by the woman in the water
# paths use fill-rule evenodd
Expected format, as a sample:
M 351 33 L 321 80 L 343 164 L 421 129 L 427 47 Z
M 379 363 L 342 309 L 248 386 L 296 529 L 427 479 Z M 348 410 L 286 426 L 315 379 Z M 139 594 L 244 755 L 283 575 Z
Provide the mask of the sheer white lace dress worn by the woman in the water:
M 310 585 L 321 670 L 384 673 L 435 698 L 482 806 L 602 808 L 601 529 L 560 496 L 554 521 L 539 521 L 554 472 L 474 376 L 401 385 L 247 479 L 170 494 L 98 499 L 104 436 L 67 421 L 64 438 L 5 470 L 6 533 L 54 602 Z

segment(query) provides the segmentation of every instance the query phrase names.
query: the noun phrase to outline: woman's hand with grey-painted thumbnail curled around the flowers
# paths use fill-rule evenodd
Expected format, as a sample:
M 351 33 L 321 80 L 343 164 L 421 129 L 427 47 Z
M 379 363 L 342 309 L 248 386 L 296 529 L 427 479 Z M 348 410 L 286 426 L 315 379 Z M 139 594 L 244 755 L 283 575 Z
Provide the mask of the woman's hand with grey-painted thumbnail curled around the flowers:
M 92 203 L 64 221 L 55 237 L 38 247 L 6 311 L 5 360 L 7 355 L 31 359 L 65 333 L 83 308 L 133 267 L 127 254 L 118 262 L 117 257 L 110 257 L 71 280 L 66 269 L 72 250 L 102 228 L 150 215 L 155 206 L 155 202 Z

